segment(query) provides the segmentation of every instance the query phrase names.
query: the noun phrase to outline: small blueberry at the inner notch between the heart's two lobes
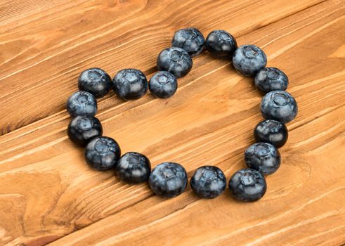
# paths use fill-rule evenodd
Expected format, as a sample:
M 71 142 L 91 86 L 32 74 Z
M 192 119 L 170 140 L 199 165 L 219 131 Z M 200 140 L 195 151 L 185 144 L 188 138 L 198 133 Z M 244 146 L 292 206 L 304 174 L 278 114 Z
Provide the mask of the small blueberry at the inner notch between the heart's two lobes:
M 159 71 L 150 79 L 148 88 L 157 98 L 169 98 L 177 90 L 177 79 L 170 72 Z

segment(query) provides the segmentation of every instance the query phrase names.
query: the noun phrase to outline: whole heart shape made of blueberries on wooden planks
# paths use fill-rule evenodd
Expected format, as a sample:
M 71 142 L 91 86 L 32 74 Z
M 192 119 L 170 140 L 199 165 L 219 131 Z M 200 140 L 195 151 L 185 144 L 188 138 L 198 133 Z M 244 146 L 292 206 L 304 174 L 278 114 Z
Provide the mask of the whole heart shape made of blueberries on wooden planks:
M 93 169 L 115 169 L 120 180 L 126 183 L 148 181 L 156 195 L 173 198 L 185 190 L 188 177 L 184 167 L 174 162 L 163 162 L 151 171 L 148 157 L 129 152 L 121 155 L 117 141 L 102 136 L 96 98 L 105 96 L 110 89 L 123 100 L 136 100 L 150 90 L 157 98 L 169 98 L 176 93 L 177 79 L 184 77 L 193 67 L 192 57 L 206 49 L 214 58 L 232 60 L 241 75 L 254 77 L 261 93 L 261 115 L 265 118 L 256 125 L 256 143 L 245 150 L 247 169 L 241 169 L 230 178 L 228 187 L 233 198 L 243 202 L 259 200 L 266 193 L 264 175 L 273 174 L 280 167 L 278 148 L 288 137 L 285 123 L 297 116 L 297 102 L 285 90 L 287 75 L 275 67 L 266 67 L 265 53 L 255 45 L 237 47 L 235 38 L 224 30 L 214 30 L 206 40 L 196 28 L 178 30 L 171 47 L 164 48 L 157 57 L 158 72 L 146 79 L 141 70 L 123 69 L 111 79 L 107 72 L 93 67 L 84 70 L 78 80 L 79 91 L 67 100 L 67 112 L 72 120 L 67 128 L 71 141 L 84 147 L 86 163 Z M 190 186 L 200 198 L 216 198 L 226 190 L 226 176 L 214 166 L 195 170 Z

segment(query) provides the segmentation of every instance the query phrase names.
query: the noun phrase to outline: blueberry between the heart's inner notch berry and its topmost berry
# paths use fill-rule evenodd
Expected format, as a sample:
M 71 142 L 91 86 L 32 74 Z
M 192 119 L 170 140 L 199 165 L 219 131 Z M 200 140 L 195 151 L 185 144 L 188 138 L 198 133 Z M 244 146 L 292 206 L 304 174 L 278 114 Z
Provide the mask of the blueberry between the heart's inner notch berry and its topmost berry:
M 171 72 L 176 78 L 187 75 L 192 65 L 187 51 L 178 47 L 165 48 L 157 58 L 158 70 Z

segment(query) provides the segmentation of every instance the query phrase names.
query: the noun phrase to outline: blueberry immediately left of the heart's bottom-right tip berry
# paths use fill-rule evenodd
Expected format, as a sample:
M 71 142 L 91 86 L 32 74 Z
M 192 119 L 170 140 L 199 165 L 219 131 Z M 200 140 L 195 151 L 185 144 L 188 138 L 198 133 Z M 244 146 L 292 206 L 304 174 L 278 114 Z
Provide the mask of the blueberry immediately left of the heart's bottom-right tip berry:
M 200 198 L 216 198 L 226 190 L 226 176 L 218 167 L 199 167 L 190 179 L 190 187 Z

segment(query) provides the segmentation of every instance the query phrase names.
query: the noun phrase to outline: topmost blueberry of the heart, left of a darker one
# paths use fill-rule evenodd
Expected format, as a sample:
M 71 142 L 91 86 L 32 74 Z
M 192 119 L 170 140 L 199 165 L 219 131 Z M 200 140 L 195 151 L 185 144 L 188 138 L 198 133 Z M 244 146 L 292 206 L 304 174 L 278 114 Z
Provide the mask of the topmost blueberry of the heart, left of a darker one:
M 202 53 L 204 43 L 204 35 L 196 28 L 190 27 L 175 32 L 174 38 L 171 41 L 171 46 L 183 48 L 193 57 Z

